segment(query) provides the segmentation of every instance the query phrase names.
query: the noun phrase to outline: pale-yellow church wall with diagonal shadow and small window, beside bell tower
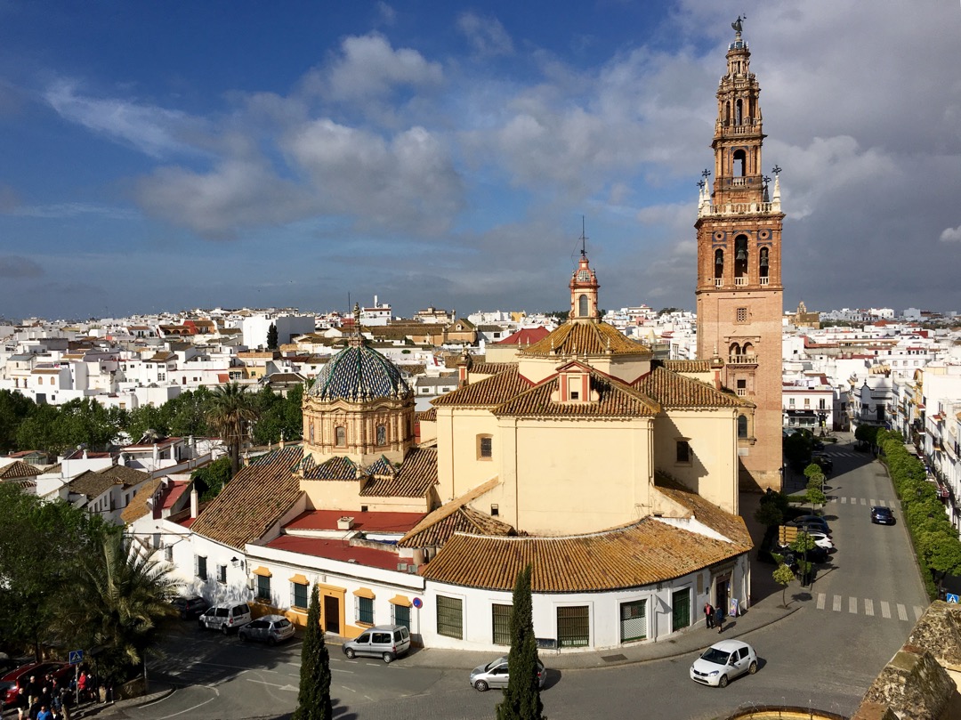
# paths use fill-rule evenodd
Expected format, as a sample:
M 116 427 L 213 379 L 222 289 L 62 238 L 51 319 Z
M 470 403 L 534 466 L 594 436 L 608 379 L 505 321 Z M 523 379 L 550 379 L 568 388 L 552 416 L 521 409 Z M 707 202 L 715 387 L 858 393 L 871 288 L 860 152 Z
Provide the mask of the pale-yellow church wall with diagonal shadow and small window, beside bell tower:
M 719 508 L 738 512 L 736 410 L 671 410 L 654 420 L 654 467 Z M 678 461 L 678 440 L 691 448 Z

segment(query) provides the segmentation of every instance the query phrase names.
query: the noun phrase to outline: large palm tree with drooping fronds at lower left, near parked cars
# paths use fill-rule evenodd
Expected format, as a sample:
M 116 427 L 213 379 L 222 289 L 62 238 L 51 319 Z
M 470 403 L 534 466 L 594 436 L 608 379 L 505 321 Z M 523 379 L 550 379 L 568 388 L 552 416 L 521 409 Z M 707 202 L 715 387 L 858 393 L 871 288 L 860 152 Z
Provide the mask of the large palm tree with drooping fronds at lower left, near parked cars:
M 105 533 L 77 563 L 57 626 L 73 645 L 98 648 L 100 672 L 122 682 L 160 641 L 163 620 L 177 614 L 169 603 L 176 589 L 166 563 L 124 534 Z

